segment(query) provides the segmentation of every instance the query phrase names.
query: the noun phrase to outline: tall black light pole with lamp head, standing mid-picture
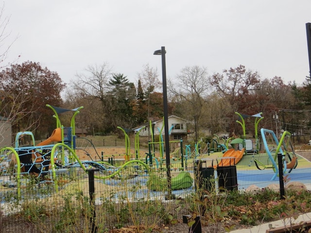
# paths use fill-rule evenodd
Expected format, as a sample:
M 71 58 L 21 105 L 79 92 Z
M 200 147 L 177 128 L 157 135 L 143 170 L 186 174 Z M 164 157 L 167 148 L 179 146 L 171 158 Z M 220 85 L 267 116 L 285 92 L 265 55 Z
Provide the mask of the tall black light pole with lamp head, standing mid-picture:
M 165 160 L 166 160 L 166 175 L 168 183 L 168 199 L 171 199 L 171 161 L 170 161 L 170 138 L 169 138 L 169 116 L 167 105 L 167 85 L 166 85 L 166 65 L 165 65 L 165 47 L 161 50 L 156 50 L 154 55 L 161 55 L 162 58 L 162 85 L 163 85 L 163 114 L 164 114 L 164 141 L 165 141 Z

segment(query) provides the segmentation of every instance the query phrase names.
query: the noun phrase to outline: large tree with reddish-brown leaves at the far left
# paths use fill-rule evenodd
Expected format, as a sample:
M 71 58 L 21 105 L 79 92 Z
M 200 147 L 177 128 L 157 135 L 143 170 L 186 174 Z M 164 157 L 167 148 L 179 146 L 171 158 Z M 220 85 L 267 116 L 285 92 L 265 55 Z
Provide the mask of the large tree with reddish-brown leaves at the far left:
M 14 133 L 27 130 L 46 136 L 56 126 L 46 104 L 61 106 L 65 86 L 57 72 L 39 63 L 11 65 L 0 72 L 0 116 L 12 122 Z

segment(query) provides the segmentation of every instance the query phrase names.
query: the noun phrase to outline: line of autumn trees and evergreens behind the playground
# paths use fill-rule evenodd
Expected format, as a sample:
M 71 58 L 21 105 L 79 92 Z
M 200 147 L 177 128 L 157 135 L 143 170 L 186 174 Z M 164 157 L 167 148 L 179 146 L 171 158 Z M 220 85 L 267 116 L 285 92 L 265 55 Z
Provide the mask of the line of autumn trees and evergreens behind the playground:
M 76 124 L 92 135 L 116 133 L 118 126 L 131 129 L 161 119 L 163 99 L 157 69 L 147 64 L 136 78 L 137 83 L 130 82 L 125 74 L 113 72 L 104 63 L 87 67 L 66 88 L 57 72 L 39 63 L 11 64 L 0 72 L 0 116 L 12 122 L 14 133 L 33 131 L 37 138 L 45 138 L 55 128 L 46 104 L 67 109 L 84 106 Z M 310 81 L 308 77 L 298 86 L 295 82 L 285 84 L 281 77 L 261 79 L 257 71 L 242 65 L 214 74 L 208 74 L 205 67 L 184 67 L 168 81 L 169 114 L 190 122 L 195 116 L 199 131 L 238 135 L 242 129 L 235 112 L 262 112 L 265 119 L 260 126 L 273 130 L 273 115 L 277 113 L 279 129 L 300 132 L 311 126 Z M 70 114 L 61 120 L 69 125 Z M 253 121 L 246 119 L 246 125 L 252 133 Z

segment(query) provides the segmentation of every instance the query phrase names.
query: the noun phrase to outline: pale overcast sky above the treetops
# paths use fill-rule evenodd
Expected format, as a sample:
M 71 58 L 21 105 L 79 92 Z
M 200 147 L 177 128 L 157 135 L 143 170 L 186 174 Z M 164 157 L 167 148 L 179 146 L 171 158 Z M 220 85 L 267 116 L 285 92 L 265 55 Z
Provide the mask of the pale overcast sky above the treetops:
M 10 39 L 18 35 L 8 60 L 39 62 L 66 83 L 108 63 L 137 82 L 146 64 L 161 79 L 153 52 L 165 46 L 168 78 L 186 66 L 213 74 L 241 64 L 301 84 L 310 9 L 311 0 L 6 0 Z

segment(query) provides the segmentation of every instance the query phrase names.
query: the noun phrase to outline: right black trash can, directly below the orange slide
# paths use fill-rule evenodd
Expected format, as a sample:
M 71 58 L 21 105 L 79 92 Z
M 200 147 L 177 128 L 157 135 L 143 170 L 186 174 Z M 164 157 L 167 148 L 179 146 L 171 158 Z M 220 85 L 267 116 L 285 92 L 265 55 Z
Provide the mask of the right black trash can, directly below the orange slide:
M 227 163 L 223 162 L 226 159 L 228 159 Z M 229 166 L 222 166 L 223 164 Z M 238 189 L 237 166 L 235 166 L 234 158 L 222 158 L 221 161 L 218 161 L 217 177 L 219 187 L 223 187 L 227 190 Z M 220 189 L 220 191 L 224 191 L 224 189 Z

